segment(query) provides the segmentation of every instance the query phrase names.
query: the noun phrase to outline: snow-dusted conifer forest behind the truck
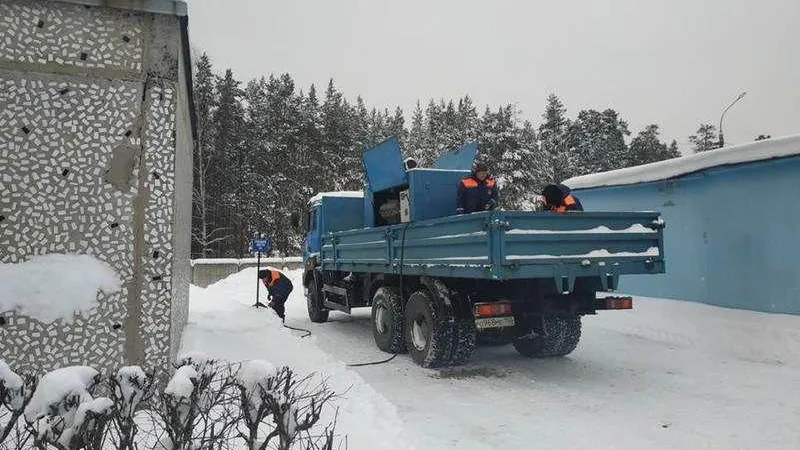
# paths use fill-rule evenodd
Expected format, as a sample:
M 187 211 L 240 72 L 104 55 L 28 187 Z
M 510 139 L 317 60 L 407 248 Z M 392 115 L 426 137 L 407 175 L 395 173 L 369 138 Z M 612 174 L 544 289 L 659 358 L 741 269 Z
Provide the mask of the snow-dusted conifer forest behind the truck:
M 301 88 L 288 74 L 242 82 L 218 73 L 208 56 L 194 75 L 199 143 L 194 155 L 193 257 L 239 257 L 253 232 L 275 254 L 297 254 L 298 221 L 320 191 L 361 189 L 361 152 L 400 139 L 422 166 L 467 141 L 480 143 L 504 208 L 525 208 L 542 184 L 680 156 L 656 124 L 635 135 L 613 109 L 570 117 L 550 95 L 539 123 L 514 105 L 479 106 L 469 95 L 376 108 L 337 89 Z

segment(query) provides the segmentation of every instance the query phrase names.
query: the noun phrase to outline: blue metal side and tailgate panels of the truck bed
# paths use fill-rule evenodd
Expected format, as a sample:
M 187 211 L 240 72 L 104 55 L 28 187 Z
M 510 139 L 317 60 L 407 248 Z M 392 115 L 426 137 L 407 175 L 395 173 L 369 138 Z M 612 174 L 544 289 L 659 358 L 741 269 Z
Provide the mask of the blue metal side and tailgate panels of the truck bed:
M 655 212 L 491 211 L 324 235 L 323 270 L 524 279 L 664 273 Z

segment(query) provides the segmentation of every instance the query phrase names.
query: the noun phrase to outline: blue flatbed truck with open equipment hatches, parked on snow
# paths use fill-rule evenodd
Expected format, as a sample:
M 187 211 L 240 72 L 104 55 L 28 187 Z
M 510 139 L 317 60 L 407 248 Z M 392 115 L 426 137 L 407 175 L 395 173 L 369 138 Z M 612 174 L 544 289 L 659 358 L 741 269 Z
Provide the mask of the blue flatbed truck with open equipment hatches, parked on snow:
M 467 362 L 480 342 L 527 357 L 571 353 L 581 317 L 630 309 L 620 275 L 664 273 L 656 212 L 456 214 L 477 144 L 406 169 L 396 139 L 364 152 L 365 186 L 308 204 L 303 285 L 313 322 L 372 308 L 378 348 L 423 367 Z M 605 293 L 598 296 L 598 293 Z

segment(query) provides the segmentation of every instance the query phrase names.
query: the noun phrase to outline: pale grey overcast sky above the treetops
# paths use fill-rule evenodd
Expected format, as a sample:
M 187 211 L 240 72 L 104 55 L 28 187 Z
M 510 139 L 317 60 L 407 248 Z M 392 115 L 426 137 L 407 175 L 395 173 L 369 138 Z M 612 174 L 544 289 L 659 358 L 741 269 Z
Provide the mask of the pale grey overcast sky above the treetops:
M 472 96 L 538 125 L 549 93 L 574 117 L 614 108 L 664 140 L 718 124 L 727 143 L 800 133 L 800 0 L 190 0 L 190 36 L 249 80 L 333 77 L 367 105 Z M 320 90 L 322 94 L 322 90 Z

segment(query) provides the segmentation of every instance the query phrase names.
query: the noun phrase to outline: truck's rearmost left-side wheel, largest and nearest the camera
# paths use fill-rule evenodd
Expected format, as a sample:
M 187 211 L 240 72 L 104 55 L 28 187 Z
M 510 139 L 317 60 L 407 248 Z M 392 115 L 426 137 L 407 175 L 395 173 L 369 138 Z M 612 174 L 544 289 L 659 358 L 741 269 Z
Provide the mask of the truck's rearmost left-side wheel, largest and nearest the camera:
M 426 291 L 411 294 L 406 305 L 406 347 L 422 367 L 449 365 L 453 357 L 454 322 L 445 317 Z

